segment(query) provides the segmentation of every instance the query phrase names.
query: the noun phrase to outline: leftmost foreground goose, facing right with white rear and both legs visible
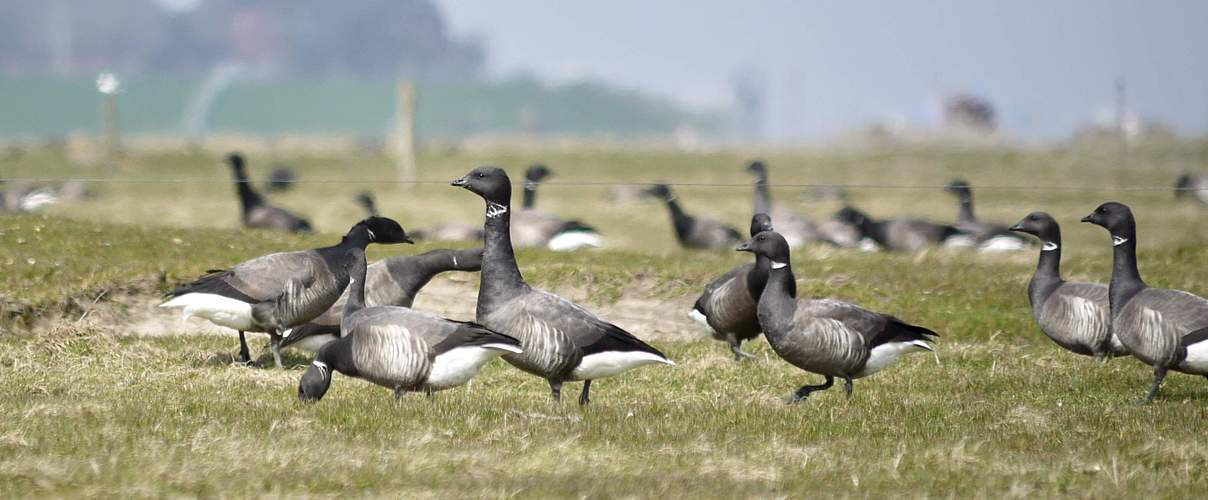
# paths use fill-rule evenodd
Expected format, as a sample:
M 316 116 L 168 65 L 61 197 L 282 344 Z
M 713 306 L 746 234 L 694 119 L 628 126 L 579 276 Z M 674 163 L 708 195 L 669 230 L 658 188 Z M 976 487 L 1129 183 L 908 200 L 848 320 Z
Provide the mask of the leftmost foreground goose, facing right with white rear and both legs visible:
M 348 231 L 339 244 L 321 249 L 269 254 L 214 271 L 180 285 L 159 304 L 178 308 L 185 318 L 199 316 L 239 331 L 239 360 L 251 361 L 244 332 L 268 333 L 273 362 L 281 366 L 278 332 L 314 320 L 348 286 L 344 269 L 349 249 L 370 243 L 411 243 L 402 226 L 385 217 L 368 217 Z

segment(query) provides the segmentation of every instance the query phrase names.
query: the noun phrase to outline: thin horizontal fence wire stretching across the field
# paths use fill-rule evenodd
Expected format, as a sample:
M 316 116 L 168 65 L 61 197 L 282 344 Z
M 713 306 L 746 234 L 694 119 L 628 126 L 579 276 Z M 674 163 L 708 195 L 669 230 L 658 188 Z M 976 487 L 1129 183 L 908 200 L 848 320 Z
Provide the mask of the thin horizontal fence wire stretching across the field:
M 230 184 L 231 180 L 207 179 L 207 178 L 0 178 L 0 182 L 97 182 L 97 184 Z M 249 182 L 250 184 L 250 182 Z M 391 180 L 391 179 L 300 179 L 288 184 L 332 184 L 332 185 L 358 185 L 358 184 L 391 184 L 391 185 L 448 185 L 448 180 Z M 523 182 L 512 182 L 522 186 Z M 672 187 L 724 187 L 724 188 L 751 188 L 753 182 L 663 182 L 663 181 L 545 181 L 541 186 L 557 187 L 647 187 L 662 184 Z M 947 185 L 892 185 L 892 184 L 773 184 L 772 188 L 836 188 L 836 190 L 942 190 Z M 1173 187 L 1173 186 L 993 186 L 976 185 L 977 191 L 1065 191 L 1065 192 L 1093 192 L 1093 191 L 1208 191 L 1208 187 Z

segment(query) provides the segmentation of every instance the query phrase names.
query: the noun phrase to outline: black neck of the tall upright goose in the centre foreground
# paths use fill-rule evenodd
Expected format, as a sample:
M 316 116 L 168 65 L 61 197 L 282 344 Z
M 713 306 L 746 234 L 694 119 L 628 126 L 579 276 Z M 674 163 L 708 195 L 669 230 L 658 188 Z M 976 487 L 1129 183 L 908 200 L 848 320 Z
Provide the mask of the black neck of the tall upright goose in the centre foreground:
M 516 264 L 516 251 L 512 250 L 511 219 L 511 202 L 505 204 L 487 202 L 478 286 L 480 316 L 488 313 L 495 306 L 495 301 L 507 298 L 525 286 L 521 268 Z

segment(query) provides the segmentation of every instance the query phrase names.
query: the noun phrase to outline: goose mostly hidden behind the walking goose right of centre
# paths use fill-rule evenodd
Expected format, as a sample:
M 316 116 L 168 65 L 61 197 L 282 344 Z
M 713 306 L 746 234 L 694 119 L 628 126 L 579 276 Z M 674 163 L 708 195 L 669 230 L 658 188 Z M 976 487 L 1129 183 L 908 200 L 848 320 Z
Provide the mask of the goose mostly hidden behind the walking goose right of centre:
M 772 219 L 767 214 L 755 214 L 751 217 L 751 237 L 772 231 Z M 755 257 L 755 263 L 745 263 L 730 269 L 704 287 L 704 293 L 696 300 L 689 318 L 704 326 L 713 338 L 730 344 L 734 361 L 743 357 L 755 357 L 742 350 L 743 341 L 759 337 L 763 331 L 759 327 L 755 308 L 759 295 L 767 283 L 769 261 L 762 256 Z

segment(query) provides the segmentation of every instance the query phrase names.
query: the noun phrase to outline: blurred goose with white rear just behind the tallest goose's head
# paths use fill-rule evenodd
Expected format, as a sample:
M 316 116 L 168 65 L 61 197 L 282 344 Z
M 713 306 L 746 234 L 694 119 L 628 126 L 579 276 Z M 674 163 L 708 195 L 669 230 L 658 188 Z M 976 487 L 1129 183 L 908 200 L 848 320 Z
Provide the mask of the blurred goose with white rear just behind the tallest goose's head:
M 524 204 L 512 215 L 512 243 L 516 246 L 546 246 L 553 251 L 599 248 L 604 242 L 591 226 L 534 208 L 536 187 L 550 175 L 552 173 L 545 165 L 533 165 L 524 171 Z

